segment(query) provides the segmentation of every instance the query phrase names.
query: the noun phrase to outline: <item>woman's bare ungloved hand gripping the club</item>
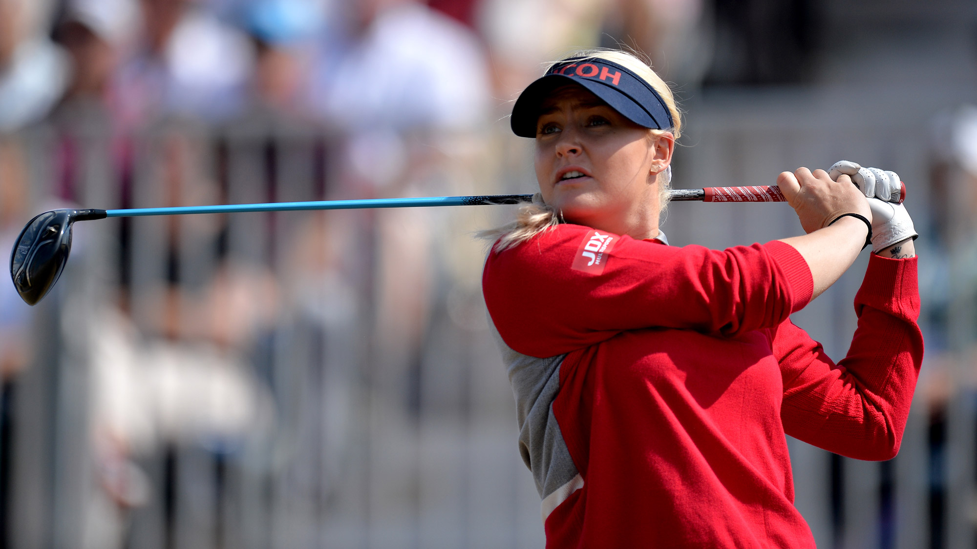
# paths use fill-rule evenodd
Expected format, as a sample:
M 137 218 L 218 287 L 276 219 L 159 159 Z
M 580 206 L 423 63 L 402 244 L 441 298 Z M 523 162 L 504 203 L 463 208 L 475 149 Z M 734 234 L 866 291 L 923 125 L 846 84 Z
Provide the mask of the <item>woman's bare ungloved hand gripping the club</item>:
M 834 181 L 825 170 L 812 173 L 801 167 L 793 173 L 781 173 L 777 186 L 797 213 L 804 232 L 824 229 L 841 214 L 859 214 L 871 221 L 869 201 L 845 174 Z

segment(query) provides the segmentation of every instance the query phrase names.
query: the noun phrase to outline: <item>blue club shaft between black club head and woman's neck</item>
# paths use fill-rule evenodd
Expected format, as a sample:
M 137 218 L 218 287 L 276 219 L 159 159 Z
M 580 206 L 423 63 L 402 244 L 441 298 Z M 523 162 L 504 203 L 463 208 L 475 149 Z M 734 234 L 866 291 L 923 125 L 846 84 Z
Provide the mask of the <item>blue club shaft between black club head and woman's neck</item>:
M 489 194 L 483 196 L 422 196 L 416 198 L 266 202 L 263 204 L 217 204 L 213 206 L 174 206 L 169 208 L 106 210 L 106 217 L 289 212 L 300 210 L 356 210 L 362 208 L 414 208 L 425 206 L 478 206 L 483 204 L 519 204 L 522 202 L 531 202 L 531 200 L 531 194 Z

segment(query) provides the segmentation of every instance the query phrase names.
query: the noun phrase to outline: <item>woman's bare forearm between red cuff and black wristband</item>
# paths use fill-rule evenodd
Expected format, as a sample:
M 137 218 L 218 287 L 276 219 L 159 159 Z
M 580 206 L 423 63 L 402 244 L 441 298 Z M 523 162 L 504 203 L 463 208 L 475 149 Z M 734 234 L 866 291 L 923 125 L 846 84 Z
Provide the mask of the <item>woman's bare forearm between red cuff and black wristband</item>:
M 811 296 L 814 299 L 855 263 L 868 234 L 869 228 L 863 221 L 849 216 L 839 219 L 830 227 L 803 236 L 782 238 L 781 241 L 793 246 L 807 262 L 814 279 L 814 293 Z M 902 250 L 904 254 L 905 249 Z

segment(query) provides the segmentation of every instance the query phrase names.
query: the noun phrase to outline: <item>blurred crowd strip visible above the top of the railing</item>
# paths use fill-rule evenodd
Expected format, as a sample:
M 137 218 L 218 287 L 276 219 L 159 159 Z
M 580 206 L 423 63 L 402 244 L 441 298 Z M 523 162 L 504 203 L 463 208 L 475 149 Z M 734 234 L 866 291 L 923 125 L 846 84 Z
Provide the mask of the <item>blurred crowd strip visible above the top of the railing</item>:
M 690 32 L 701 0 L 4 0 L 0 10 L 7 132 L 93 110 L 119 132 L 254 110 L 360 131 L 470 129 L 485 124 L 490 98 L 510 99 L 539 63 L 606 42 L 608 29 L 667 58 L 660 66 L 683 83 L 709 59 Z

